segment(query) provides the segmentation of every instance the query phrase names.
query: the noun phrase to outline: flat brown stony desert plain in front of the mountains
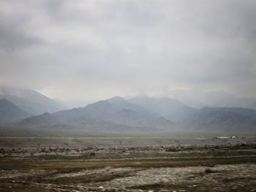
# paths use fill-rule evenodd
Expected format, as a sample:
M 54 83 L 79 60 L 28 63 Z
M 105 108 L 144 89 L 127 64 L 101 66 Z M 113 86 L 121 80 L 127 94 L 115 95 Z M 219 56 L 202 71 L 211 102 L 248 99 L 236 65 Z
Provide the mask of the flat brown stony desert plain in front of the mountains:
M 0 191 L 256 191 L 254 134 L 1 137 Z

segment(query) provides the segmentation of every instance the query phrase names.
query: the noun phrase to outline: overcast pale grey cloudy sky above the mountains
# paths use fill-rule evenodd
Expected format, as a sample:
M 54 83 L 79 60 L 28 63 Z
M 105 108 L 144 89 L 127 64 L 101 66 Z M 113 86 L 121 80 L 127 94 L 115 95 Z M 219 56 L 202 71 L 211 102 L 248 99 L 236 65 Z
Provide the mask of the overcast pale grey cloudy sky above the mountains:
M 255 0 L 1 0 L 0 85 L 63 101 L 256 97 Z

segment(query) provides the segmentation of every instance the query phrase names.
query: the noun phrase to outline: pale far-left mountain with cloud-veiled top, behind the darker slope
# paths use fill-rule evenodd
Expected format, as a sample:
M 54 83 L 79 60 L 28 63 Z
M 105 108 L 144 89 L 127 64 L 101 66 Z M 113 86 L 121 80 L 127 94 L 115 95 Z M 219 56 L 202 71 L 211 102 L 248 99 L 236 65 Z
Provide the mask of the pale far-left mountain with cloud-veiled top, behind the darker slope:
M 40 115 L 44 112 L 56 112 L 64 109 L 57 101 L 37 91 L 28 89 L 2 87 L 0 88 L 0 99 L 11 101 L 21 110 L 31 115 Z

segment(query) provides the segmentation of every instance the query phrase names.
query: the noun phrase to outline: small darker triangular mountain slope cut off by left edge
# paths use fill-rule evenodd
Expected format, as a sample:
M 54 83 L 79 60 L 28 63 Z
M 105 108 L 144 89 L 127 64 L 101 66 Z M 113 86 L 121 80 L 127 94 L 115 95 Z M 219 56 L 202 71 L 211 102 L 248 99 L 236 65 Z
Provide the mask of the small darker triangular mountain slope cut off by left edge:
M 16 120 L 27 118 L 30 115 L 20 110 L 15 104 L 7 99 L 0 100 L 0 124 L 10 123 Z

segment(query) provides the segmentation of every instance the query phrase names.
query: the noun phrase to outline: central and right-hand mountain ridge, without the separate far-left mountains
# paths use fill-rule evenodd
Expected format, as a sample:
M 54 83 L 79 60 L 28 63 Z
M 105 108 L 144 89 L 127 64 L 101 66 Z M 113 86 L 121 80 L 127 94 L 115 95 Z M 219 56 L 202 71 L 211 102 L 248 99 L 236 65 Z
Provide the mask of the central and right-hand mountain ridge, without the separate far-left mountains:
M 238 107 L 188 107 L 176 99 L 113 97 L 86 107 L 45 113 L 15 126 L 87 131 L 256 131 L 256 111 Z

